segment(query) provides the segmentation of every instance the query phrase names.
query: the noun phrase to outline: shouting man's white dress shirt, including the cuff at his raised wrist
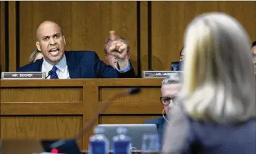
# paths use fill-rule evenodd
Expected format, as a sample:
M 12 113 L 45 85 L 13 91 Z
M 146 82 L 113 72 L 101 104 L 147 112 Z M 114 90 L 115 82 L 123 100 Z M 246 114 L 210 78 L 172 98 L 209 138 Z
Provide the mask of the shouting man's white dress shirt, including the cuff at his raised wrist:
M 66 56 L 65 55 L 62 57 L 60 62 L 58 64 L 56 64 L 55 66 L 57 67 L 56 73 L 57 73 L 57 76 L 59 77 L 59 79 L 70 79 L 70 76 L 68 73 L 68 66 L 66 65 Z M 42 64 L 42 72 L 46 72 L 46 76 L 48 76 L 49 71 L 52 69 L 53 69 L 53 65 L 49 64 L 44 59 L 43 64 Z M 118 70 L 119 73 L 125 73 L 125 72 L 131 70 L 131 65 L 128 61 L 125 68 L 120 70 L 120 69 L 118 69 L 118 67 L 116 67 L 116 70 Z M 47 79 L 50 79 L 50 77 L 51 77 L 51 75 L 49 77 L 47 77 Z

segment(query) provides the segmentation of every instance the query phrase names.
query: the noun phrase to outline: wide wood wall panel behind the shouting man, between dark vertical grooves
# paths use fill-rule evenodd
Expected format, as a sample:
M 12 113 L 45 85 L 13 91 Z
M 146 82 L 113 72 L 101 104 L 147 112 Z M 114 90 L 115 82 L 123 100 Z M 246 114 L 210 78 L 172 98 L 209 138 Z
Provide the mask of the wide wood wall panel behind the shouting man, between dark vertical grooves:
M 137 69 L 136 1 L 20 1 L 19 10 L 21 66 L 35 48 L 39 23 L 52 20 L 64 31 L 66 50 L 93 50 L 104 61 L 104 42 L 116 30 L 129 41 Z

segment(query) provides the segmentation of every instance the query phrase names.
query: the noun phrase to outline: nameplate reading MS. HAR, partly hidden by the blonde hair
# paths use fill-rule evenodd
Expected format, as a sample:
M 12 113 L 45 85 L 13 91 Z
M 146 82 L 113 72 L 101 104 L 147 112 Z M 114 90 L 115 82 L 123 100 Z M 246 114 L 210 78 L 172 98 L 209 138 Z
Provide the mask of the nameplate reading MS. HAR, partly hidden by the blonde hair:
M 165 78 L 181 71 L 143 71 L 143 78 Z

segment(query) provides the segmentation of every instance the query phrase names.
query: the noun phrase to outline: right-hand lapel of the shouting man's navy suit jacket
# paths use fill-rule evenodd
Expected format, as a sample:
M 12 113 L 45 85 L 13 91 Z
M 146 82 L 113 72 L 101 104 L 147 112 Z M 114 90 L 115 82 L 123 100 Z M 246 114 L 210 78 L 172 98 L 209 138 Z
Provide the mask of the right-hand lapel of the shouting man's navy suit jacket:
M 68 73 L 71 79 L 80 78 L 79 64 L 73 56 L 75 52 L 65 52 L 66 65 L 68 66 Z

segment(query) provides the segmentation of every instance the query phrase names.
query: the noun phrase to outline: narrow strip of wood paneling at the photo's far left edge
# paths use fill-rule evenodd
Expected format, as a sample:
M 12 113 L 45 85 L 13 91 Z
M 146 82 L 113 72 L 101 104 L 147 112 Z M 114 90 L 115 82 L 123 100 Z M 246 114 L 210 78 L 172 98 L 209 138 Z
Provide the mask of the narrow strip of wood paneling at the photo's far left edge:
M 0 65 L 2 71 L 6 71 L 5 3 L 6 1 L 0 1 Z

